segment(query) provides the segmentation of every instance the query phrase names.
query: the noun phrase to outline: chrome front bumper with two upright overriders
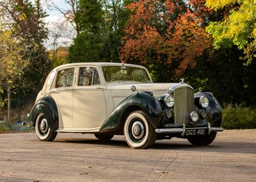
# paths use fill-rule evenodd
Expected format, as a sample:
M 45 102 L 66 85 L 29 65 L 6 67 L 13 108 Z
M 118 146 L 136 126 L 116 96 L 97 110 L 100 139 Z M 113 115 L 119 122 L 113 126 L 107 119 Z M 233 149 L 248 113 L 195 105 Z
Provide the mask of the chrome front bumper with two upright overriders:
M 221 127 L 211 127 L 210 123 L 208 123 L 207 127 L 195 127 L 195 128 L 186 128 L 185 124 L 182 125 L 182 128 L 157 128 L 156 133 L 181 133 L 182 136 L 185 135 L 186 129 L 208 129 L 208 135 L 211 132 L 222 132 L 223 128 Z

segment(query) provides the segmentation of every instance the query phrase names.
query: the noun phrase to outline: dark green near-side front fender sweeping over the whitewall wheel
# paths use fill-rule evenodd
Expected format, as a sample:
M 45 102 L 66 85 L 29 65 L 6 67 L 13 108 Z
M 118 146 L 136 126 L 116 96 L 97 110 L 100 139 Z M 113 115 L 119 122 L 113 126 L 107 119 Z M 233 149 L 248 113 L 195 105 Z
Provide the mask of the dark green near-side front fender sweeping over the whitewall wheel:
M 154 128 L 160 126 L 163 120 L 163 110 L 160 102 L 149 93 L 140 92 L 125 98 L 106 118 L 100 132 L 110 132 L 122 127 L 127 116 L 138 109 L 147 114 Z

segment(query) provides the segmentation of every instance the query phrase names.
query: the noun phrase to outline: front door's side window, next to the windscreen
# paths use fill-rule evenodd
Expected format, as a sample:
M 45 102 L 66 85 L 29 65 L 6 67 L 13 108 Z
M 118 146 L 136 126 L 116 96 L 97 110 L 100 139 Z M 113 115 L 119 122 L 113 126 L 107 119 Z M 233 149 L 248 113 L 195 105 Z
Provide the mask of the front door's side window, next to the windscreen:
M 100 78 L 96 68 L 86 67 L 79 69 L 78 86 L 99 85 Z

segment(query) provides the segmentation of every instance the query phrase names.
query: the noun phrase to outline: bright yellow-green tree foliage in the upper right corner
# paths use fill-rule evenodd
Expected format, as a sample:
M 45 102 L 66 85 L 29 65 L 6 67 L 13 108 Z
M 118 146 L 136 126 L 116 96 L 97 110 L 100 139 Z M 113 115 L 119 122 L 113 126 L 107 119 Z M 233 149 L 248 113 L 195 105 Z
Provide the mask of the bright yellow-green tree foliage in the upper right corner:
M 206 6 L 212 10 L 231 7 L 228 15 L 218 22 L 211 22 L 207 31 L 214 38 L 214 48 L 232 47 L 244 50 L 248 63 L 256 57 L 256 2 L 254 0 L 207 0 Z

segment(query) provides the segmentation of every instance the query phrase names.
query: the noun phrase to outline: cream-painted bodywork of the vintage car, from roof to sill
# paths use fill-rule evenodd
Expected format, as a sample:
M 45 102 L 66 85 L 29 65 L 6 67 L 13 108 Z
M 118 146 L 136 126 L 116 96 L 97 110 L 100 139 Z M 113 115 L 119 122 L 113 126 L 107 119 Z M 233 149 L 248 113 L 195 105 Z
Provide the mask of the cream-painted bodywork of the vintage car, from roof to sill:
M 132 69 L 143 70 L 143 74 L 147 75 L 147 80 L 143 83 L 132 80 L 106 81 L 118 75 L 115 73 L 106 79 L 104 66 L 105 68 L 118 66 L 122 70 L 124 65 L 131 66 Z M 65 72 L 65 70 L 72 70 L 71 73 L 68 72 L 69 75 L 64 75 L 64 78 L 70 77 L 68 79 L 70 85 L 59 86 L 59 84 L 65 85 L 64 82 L 59 83 L 61 72 Z M 81 70 L 84 71 L 84 75 L 93 72 L 92 77 L 97 72 L 99 82 L 89 82 L 86 77 L 81 80 Z M 72 73 L 74 73 L 73 77 Z M 132 74 L 132 78 L 136 76 L 141 77 L 141 72 Z M 49 73 L 36 100 L 42 96 L 52 96 L 58 107 L 59 131 L 97 132 L 111 111 L 125 98 L 134 94 L 131 91 L 131 86 L 136 86 L 138 91 L 151 91 L 157 97 L 168 93 L 170 86 L 173 85 L 170 83 L 153 83 L 148 71 L 143 66 L 121 63 L 72 63 L 58 66 Z

